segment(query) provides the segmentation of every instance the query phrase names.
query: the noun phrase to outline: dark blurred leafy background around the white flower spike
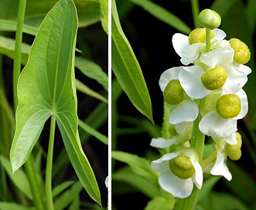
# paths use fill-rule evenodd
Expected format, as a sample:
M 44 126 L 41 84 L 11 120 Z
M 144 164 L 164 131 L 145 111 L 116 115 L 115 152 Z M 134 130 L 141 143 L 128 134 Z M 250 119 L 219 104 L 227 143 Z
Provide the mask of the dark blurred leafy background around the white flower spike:
M 146 206 L 145 209 L 171 209 L 174 205 L 173 203 L 166 205 L 165 198 L 158 196 L 161 195 L 161 191 L 159 192 L 159 185 L 148 164 L 159 158 L 159 152 L 150 147 L 149 143 L 152 137 L 161 136 L 163 104 L 159 76 L 172 66 L 182 66 L 179 56 L 172 48 L 172 35 L 176 32 L 187 35 L 195 28 L 193 12 L 196 12 L 196 8 L 192 9 L 192 5 L 196 3 L 199 3 L 200 11 L 204 8 L 212 8 L 220 14 L 222 18 L 220 29 L 227 33 L 227 39 L 235 37 L 249 46 L 251 61 L 247 65 L 252 69 L 244 87 L 249 101 L 249 112 L 244 120 L 238 121 L 238 130 L 243 137 L 242 157 L 239 161 L 227 163 L 233 175 L 232 181 L 213 178 L 203 184 L 205 187 L 200 193 L 196 209 L 209 209 L 209 206 L 210 209 L 256 208 L 256 95 L 254 94 L 256 2 L 254 0 L 117 0 L 121 27 L 142 69 L 155 124 L 139 113 L 135 109 L 136 105 L 133 107 L 131 96 L 127 97 L 123 81 L 118 79 L 114 70 L 118 82 L 114 80 L 112 83 L 113 209 L 144 209 Z M 116 35 L 113 34 L 112 29 L 112 42 L 113 36 Z M 114 56 L 112 63 L 113 59 Z M 132 69 L 132 65 L 129 66 L 131 63 L 127 62 L 128 68 Z M 155 203 L 162 204 L 162 208 L 154 206 Z M 163 207 L 165 205 L 169 207 Z

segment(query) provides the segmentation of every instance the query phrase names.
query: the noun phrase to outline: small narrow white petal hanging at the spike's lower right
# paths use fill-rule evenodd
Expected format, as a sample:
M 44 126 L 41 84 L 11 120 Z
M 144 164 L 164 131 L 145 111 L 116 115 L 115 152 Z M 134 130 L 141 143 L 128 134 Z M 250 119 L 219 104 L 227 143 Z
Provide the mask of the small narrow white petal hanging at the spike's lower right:
M 230 174 L 230 171 L 227 168 L 227 165 L 225 164 L 226 155 L 222 153 L 221 151 L 217 154 L 217 160 L 215 164 L 213 165 L 212 170 L 210 171 L 210 174 L 213 175 L 222 175 L 224 178 L 227 178 L 228 181 L 232 179 L 232 174 Z

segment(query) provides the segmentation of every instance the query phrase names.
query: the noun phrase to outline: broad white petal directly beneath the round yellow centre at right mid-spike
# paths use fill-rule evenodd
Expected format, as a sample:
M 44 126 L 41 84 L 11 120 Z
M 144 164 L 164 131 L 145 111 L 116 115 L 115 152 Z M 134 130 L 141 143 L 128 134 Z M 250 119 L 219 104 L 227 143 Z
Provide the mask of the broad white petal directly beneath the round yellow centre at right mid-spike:
M 203 134 L 216 138 L 229 137 L 236 129 L 237 120 L 224 119 L 216 111 L 207 113 L 200 120 L 199 129 Z

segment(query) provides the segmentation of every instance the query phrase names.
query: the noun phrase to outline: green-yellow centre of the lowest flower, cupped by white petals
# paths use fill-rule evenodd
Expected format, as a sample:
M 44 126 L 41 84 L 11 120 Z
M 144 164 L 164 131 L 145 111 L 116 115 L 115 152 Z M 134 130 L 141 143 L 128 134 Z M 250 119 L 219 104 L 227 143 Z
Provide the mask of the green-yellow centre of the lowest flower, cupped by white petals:
M 185 155 L 179 155 L 172 160 L 169 160 L 169 168 L 172 173 L 179 178 L 191 178 L 195 174 L 195 168 L 190 159 Z

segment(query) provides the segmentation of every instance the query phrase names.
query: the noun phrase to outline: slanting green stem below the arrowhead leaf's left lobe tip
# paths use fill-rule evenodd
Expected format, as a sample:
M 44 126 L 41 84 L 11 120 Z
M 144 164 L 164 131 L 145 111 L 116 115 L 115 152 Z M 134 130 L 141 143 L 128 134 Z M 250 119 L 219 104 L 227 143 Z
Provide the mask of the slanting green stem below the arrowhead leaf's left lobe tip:
M 36 172 L 32 163 L 32 157 L 29 156 L 28 160 L 24 164 L 26 174 L 29 178 L 29 185 L 32 191 L 33 203 L 36 209 L 45 209 L 43 205 L 43 195 L 39 188 L 39 184 L 36 179 Z

